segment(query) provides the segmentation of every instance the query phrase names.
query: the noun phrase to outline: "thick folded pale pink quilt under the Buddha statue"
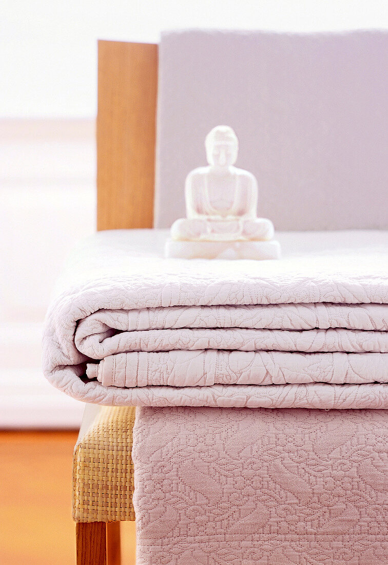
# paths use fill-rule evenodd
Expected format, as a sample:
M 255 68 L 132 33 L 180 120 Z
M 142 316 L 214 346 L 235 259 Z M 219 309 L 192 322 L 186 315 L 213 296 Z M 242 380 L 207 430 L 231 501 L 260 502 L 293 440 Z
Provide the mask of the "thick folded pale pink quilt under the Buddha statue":
M 109 405 L 388 408 L 388 234 L 278 234 L 280 261 L 163 258 L 102 232 L 47 315 L 47 378 Z

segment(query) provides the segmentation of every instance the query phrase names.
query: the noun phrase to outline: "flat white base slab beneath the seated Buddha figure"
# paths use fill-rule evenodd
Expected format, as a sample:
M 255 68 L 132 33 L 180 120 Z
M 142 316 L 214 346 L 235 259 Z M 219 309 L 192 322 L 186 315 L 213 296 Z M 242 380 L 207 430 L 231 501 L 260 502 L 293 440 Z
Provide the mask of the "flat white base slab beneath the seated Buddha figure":
M 280 244 L 271 241 L 165 242 L 165 257 L 175 259 L 280 259 Z

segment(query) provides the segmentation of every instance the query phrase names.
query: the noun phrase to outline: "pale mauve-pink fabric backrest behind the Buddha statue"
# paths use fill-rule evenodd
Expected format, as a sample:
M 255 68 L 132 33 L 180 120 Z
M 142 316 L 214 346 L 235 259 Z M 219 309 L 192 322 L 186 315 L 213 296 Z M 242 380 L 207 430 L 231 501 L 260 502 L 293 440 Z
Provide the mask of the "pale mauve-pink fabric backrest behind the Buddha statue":
M 159 51 L 155 226 L 217 124 L 239 137 L 280 230 L 388 228 L 388 33 L 185 31 Z

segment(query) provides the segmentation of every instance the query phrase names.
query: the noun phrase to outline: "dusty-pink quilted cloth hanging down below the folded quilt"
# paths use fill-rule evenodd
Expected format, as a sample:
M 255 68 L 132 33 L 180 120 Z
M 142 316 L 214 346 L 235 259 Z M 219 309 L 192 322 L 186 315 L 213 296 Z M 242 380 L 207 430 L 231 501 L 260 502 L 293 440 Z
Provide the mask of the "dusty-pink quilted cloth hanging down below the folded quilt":
M 137 408 L 137 565 L 388 563 L 383 410 Z

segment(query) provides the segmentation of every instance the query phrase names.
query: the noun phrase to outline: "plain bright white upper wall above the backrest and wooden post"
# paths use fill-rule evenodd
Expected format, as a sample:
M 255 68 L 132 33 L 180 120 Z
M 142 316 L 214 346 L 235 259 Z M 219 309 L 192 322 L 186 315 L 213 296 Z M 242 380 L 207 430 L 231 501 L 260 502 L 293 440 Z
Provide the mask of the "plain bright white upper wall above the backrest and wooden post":
M 98 38 L 163 29 L 387 28 L 386 0 L 12 0 L 0 7 L 0 116 L 92 117 Z

